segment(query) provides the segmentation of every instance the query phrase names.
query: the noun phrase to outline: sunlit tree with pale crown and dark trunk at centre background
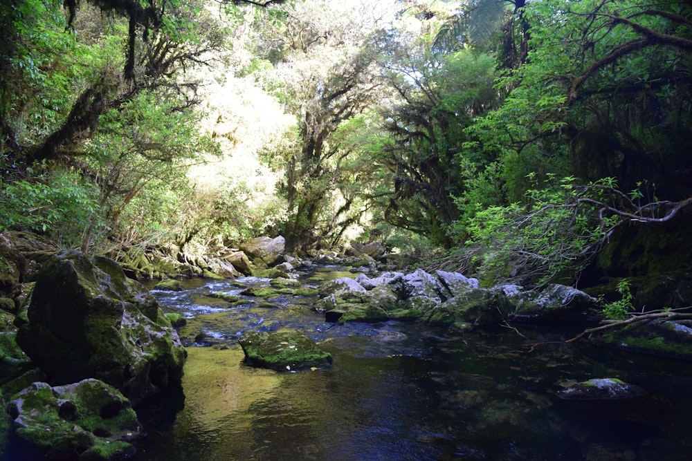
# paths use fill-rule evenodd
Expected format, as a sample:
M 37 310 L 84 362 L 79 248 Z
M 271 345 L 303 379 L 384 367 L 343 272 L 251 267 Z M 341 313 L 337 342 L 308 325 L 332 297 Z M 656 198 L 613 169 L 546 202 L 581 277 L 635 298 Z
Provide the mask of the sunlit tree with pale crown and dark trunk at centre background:
M 286 12 L 282 28 L 265 43 L 274 62 L 265 85 L 298 117 L 295 144 L 284 154 L 284 225 L 289 251 L 322 245 L 332 220 L 343 151 L 331 142 L 340 124 L 373 104 L 381 83 L 375 72 L 377 18 L 355 3 L 320 1 Z M 262 49 L 262 48 L 260 48 Z M 348 200 L 347 200 L 348 201 Z M 331 211 L 330 211 L 331 210 Z

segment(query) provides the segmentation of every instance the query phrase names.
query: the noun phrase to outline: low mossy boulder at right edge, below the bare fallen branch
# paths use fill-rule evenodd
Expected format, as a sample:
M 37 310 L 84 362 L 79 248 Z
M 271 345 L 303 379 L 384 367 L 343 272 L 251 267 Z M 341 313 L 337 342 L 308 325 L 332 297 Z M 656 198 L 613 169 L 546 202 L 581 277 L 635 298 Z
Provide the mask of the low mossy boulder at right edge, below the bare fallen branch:
M 692 360 L 692 322 L 647 319 L 595 339 L 601 346 Z

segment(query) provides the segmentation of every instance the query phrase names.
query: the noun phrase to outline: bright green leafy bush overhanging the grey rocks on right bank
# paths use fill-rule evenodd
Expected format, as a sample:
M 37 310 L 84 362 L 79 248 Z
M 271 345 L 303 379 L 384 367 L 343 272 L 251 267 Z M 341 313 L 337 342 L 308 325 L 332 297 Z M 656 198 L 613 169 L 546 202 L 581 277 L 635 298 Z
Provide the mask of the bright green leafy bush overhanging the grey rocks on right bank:
M 557 180 L 547 175 L 543 187 L 527 191 L 527 205 L 477 211 L 465 229 L 466 254 L 477 275 L 489 284 L 574 283 L 605 233 L 618 222 L 617 217 L 599 215 L 600 202 L 580 200 L 598 197 L 603 189 L 575 182 L 574 177 Z

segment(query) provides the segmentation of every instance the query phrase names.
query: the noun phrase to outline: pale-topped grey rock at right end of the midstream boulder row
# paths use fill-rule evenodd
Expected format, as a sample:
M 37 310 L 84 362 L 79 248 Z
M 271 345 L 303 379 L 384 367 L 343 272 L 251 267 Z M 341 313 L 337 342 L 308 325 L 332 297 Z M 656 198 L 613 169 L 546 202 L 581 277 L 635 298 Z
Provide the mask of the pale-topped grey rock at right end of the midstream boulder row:
M 567 285 L 548 285 L 540 291 L 509 290 L 507 285 L 500 289 L 508 293 L 509 301 L 516 305 L 509 315 L 513 321 L 561 321 L 566 313 L 583 312 L 597 304 L 596 298 Z

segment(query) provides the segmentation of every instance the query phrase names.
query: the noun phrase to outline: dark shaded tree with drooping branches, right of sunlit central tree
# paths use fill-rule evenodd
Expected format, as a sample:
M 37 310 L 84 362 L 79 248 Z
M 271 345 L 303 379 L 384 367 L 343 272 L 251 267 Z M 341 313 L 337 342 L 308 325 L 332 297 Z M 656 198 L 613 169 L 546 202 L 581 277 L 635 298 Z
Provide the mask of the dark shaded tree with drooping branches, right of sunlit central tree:
M 465 189 L 470 164 L 489 158 L 462 154 L 464 129 L 493 108 L 494 60 L 469 49 L 442 55 L 430 52 L 430 35 L 406 37 L 386 58 L 390 84 L 400 102 L 385 113 L 394 139 L 387 153 L 394 191 L 388 222 L 450 245 L 447 227 L 459 218 L 453 197 Z

